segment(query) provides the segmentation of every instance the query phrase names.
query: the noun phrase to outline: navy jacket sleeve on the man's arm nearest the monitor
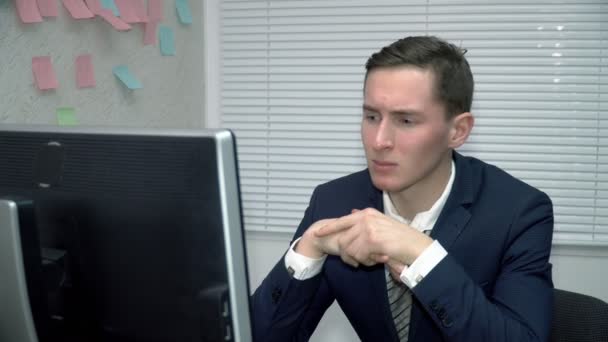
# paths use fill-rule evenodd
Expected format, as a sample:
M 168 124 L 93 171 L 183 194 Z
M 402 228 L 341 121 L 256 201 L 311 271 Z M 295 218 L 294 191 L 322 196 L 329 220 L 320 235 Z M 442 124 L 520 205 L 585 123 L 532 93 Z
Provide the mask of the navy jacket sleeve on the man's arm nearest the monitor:
M 317 220 L 315 199 L 316 190 L 293 240 Z M 254 342 L 308 341 L 333 301 L 323 271 L 311 279 L 294 279 L 283 256 L 252 296 Z

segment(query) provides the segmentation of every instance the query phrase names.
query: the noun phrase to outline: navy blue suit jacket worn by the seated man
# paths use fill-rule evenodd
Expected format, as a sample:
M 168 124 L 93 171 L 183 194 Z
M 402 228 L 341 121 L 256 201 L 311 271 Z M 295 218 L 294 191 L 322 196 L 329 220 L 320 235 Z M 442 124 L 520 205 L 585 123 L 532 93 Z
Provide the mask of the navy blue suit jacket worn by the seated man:
M 454 153 L 456 178 L 431 237 L 448 255 L 413 289 L 409 341 L 546 341 L 552 308 L 553 209 L 543 192 Z M 352 209 L 383 211 L 367 170 L 317 187 L 294 239 Z M 329 256 L 290 277 L 281 259 L 253 295 L 256 342 L 307 341 L 334 300 L 362 341 L 397 341 L 384 265 Z

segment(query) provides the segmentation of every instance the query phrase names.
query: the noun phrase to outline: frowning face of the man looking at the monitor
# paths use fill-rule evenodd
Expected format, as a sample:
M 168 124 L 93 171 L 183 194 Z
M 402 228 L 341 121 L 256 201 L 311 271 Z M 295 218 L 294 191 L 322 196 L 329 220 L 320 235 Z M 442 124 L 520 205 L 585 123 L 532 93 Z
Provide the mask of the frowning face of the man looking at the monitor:
M 451 122 L 430 70 L 379 68 L 365 82 L 361 137 L 374 185 L 390 193 L 433 187 L 450 158 Z M 414 191 L 417 192 L 417 191 Z

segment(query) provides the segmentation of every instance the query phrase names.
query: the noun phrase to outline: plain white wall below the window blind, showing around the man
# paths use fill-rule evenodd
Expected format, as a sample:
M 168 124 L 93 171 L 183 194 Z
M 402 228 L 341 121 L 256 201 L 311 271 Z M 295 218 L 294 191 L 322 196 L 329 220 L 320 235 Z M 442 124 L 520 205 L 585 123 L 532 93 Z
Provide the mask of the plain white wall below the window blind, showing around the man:
M 247 232 L 247 254 L 251 290 L 255 290 L 266 274 L 285 253 L 291 236 L 286 233 Z M 608 250 L 598 246 L 553 246 L 553 282 L 555 287 L 596 296 L 608 301 Z M 319 323 L 312 342 L 358 341 L 356 333 L 333 304 Z

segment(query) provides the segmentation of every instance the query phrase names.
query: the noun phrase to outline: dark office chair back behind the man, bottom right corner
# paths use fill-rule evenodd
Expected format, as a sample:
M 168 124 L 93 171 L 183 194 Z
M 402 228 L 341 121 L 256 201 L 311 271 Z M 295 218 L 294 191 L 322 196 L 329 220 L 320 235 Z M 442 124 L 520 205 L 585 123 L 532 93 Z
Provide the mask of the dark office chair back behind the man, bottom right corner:
M 553 297 L 551 342 L 608 342 L 608 303 L 559 289 Z

